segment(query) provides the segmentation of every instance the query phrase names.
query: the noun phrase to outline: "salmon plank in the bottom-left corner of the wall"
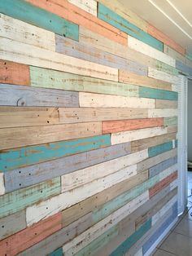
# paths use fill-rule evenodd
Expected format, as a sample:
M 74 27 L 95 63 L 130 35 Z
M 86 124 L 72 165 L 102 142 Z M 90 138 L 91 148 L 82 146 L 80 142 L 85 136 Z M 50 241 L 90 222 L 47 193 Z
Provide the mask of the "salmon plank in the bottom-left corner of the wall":
M 13 256 L 61 229 L 61 213 L 27 227 L 0 242 L 1 255 Z

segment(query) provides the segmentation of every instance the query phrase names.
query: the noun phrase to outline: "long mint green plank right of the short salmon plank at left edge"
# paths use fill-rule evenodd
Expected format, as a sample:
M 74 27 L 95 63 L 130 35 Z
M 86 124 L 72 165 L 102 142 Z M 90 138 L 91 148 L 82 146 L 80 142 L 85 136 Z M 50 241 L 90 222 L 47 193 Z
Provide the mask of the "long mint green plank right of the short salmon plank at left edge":
M 138 86 L 46 68 L 30 67 L 30 77 L 31 85 L 36 87 L 138 97 Z

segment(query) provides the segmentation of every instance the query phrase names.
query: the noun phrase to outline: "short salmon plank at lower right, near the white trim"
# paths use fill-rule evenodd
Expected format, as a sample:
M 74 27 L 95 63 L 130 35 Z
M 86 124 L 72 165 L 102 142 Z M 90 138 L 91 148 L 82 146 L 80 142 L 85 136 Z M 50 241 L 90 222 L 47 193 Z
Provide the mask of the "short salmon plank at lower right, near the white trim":
M 169 183 L 172 183 L 174 179 L 177 179 L 177 171 L 168 175 L 165 179 L 162 179 L 159 183 L 155 184 L 154 187 L 149 189 L 150 198 L 155 196 L 158 192 L 168 186 Z

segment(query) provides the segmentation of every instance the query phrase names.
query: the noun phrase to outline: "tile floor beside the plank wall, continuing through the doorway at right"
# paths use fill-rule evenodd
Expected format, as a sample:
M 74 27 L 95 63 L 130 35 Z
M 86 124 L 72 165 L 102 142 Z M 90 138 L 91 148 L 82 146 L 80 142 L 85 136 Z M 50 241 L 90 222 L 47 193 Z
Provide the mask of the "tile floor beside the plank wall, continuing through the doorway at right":
M 192 171 L 188 172 L 188 196 L 192 189 Z M 192 196 L 183 214 L 167 238 L 157 246 L 154 256 L 192 256 Z M 191 214 L 191 215 L 190 215 Z

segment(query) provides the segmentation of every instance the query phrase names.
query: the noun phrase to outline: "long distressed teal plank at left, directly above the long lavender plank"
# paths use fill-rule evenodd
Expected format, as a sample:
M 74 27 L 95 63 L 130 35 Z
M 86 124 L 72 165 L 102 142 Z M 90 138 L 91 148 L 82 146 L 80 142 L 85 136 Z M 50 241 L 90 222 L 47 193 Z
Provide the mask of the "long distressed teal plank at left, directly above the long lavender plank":
M 50 161 L 59 157 L 67 157 L 98 148 L 105 148 L 110 145 L 110 135 L 100 135 L 4 150 L 0 152 L 0 172 L 15 170 L 20 167 Z

